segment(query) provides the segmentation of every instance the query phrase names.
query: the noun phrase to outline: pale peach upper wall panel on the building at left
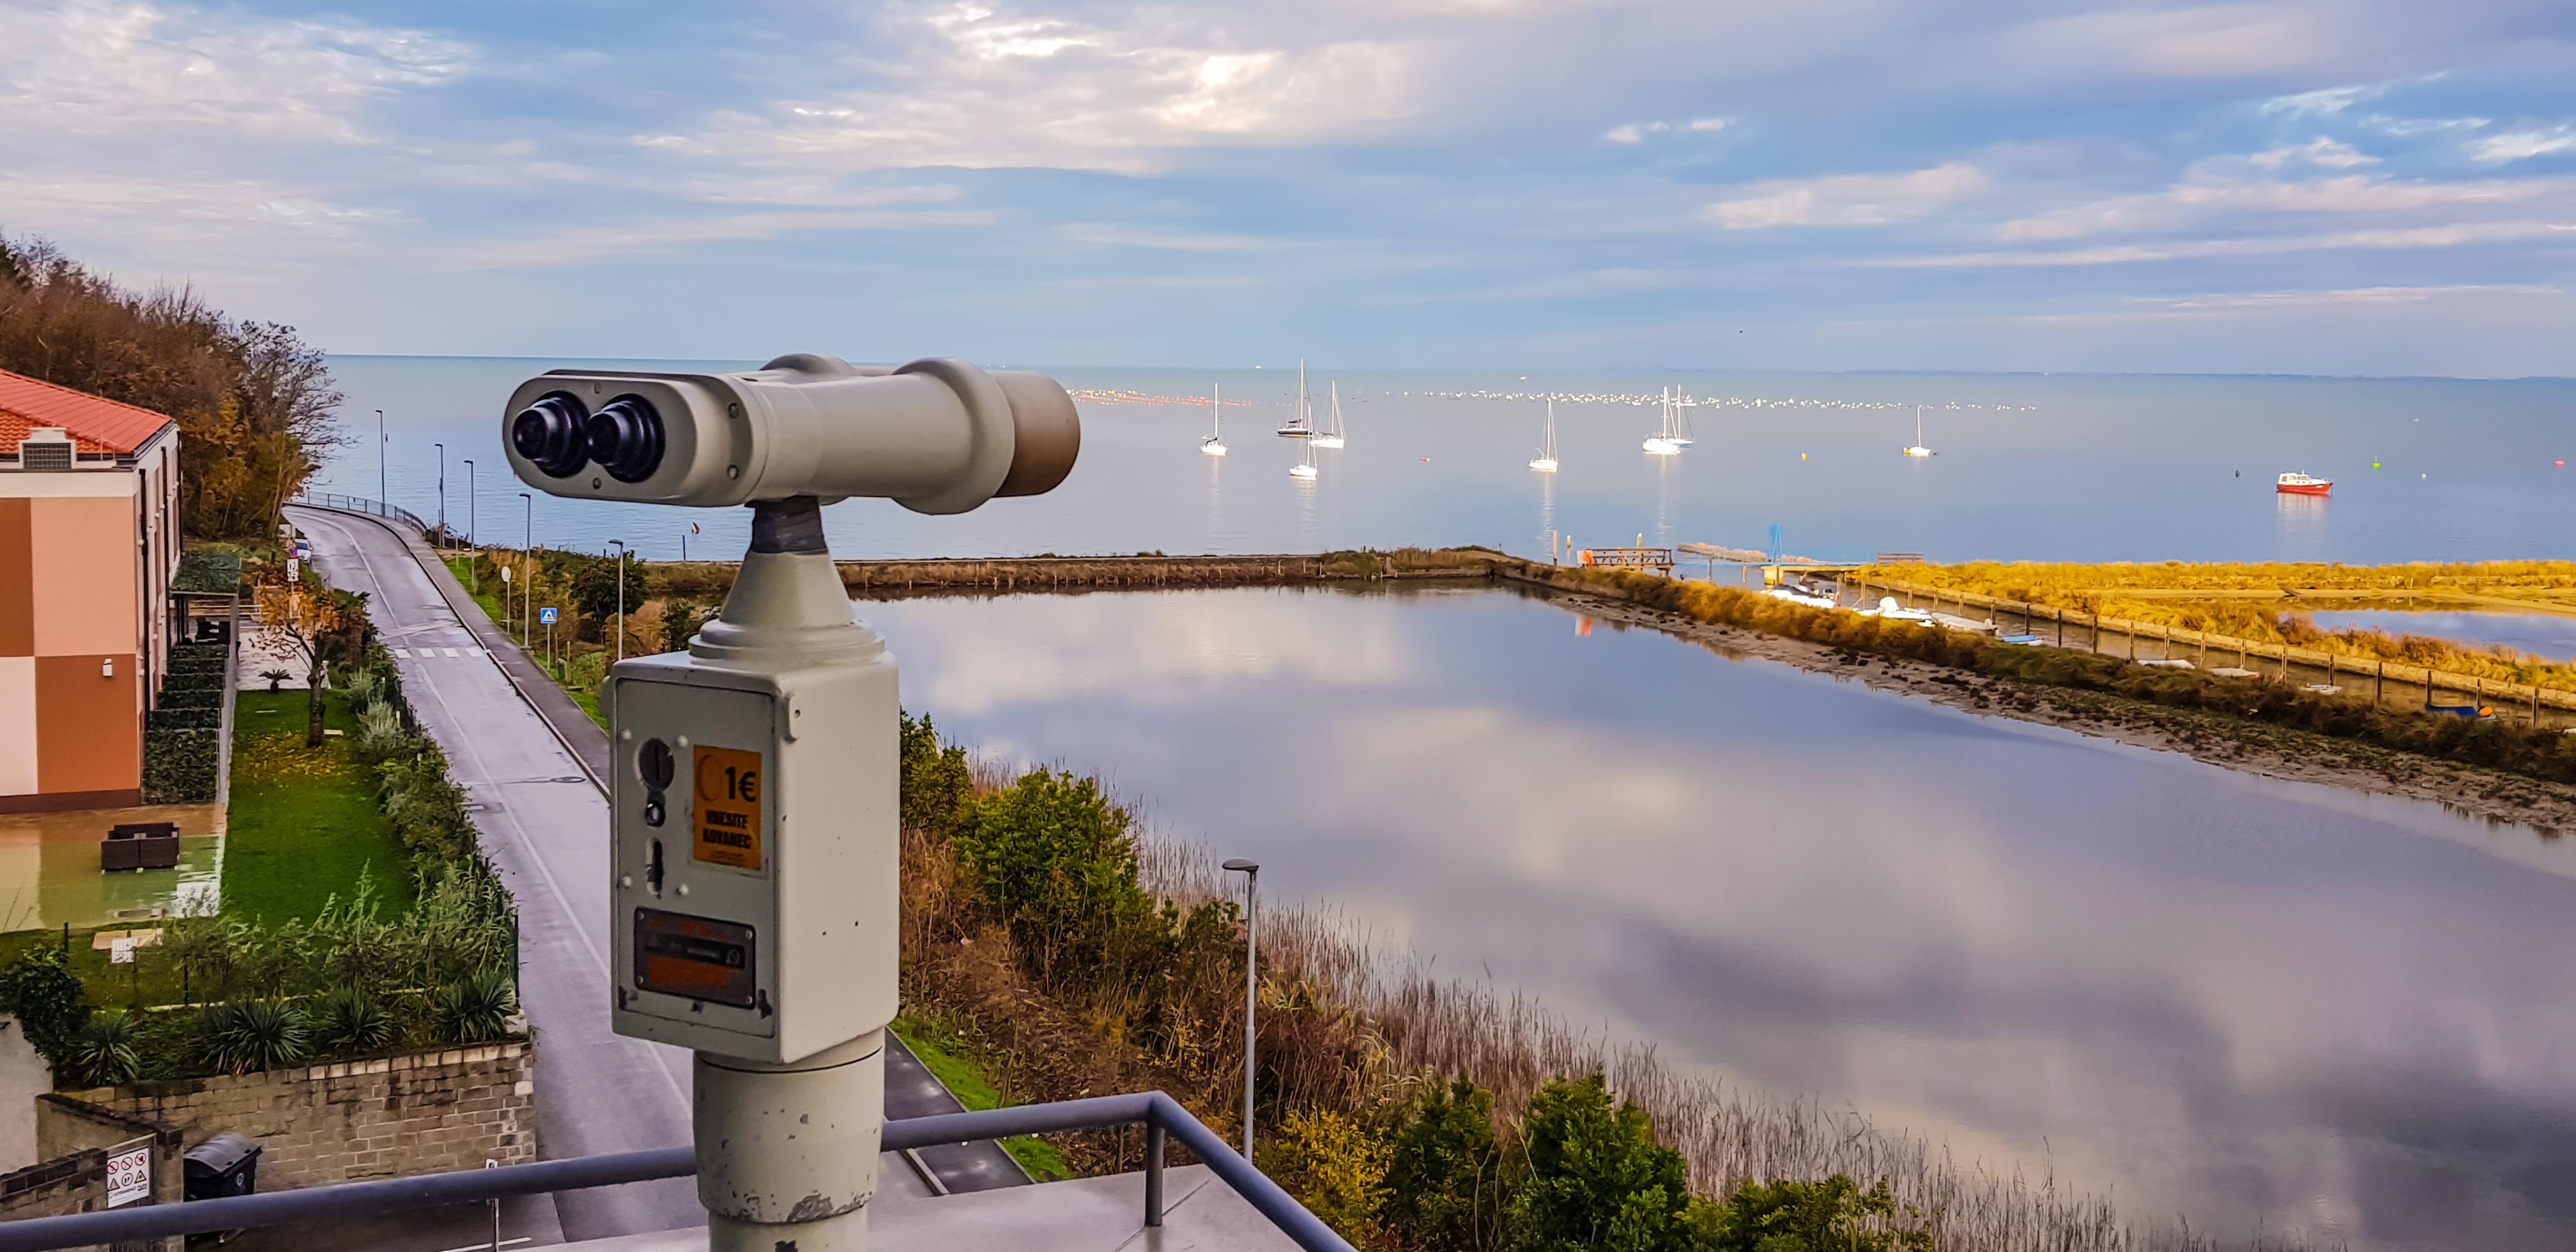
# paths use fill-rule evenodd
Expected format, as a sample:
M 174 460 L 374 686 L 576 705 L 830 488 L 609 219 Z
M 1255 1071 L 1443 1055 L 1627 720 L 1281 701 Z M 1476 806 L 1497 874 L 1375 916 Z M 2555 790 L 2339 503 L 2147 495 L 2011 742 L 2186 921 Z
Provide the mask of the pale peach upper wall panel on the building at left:
M 36 497 L 28 505 L 36 654 L 134 657 L 134 497 Z M 95 665 L 90 678 L 98 678 Z

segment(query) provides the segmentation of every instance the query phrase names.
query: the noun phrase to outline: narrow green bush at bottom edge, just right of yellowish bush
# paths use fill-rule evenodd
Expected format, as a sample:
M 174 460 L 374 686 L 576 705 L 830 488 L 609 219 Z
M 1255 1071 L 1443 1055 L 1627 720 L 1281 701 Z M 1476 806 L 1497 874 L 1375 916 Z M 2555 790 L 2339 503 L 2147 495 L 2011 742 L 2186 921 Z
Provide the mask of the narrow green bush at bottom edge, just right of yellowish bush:
M 1494 1092 L 1466 1079 L 1427 1082 L 1404 1108 L 1386 1159 L 1386 1229 L 1404 1247 L 1486 1252 L 1502 1247 L 1507 1198 Z

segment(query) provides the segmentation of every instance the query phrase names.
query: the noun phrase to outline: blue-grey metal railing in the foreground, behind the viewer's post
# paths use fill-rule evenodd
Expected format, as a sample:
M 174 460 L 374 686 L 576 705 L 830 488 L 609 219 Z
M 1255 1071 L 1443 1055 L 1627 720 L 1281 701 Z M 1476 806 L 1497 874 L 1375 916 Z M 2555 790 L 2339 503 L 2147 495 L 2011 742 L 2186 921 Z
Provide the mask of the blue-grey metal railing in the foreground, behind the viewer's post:
M 1056 1105 L 989 1108 L 981 1113 L 940 1113 L 930 1118 L 889 1121 L 881 1141 L 884 1152 L 925 1149 L 940 1144 L 966 1144 L 974 1139 L 1007 1139 L 1020 1133 L 1095 1131 L 1108 1126 L 1144 1126 L 1144 1224 L 1162 1226 L 1162 1154 L 1164 1139 L 1177 1139 L 1208 1172 L 1221 1177 L 1260 1216 L 1303 1252 L 1352 1252 L 1352 1247 L 1324 1226 L 1306 1206 L 1280 1190 L 1252 1162 L 1234 1154 L 1216 1131 L 1180 1108 L 1164 1092 L 1095 1095 L 1090 1100 L 1064 1100 Z M 113 1244 L 121 1239 L 167 1239 L 178 1234 L 242 1231 L 260 1226 L 291 1226 L 301 1221 L 368 1219 L 410 1208 L 440 1208 L 451 1203 L 500 1200 L 510 1195 L 541 1195 L 556 1190 L 616 1188 L 621 1182 L 652 1182 L 662 1177 L 690 1177 L 698 1172 L 696 1152 L 685 1146 L 652 1152 L 611 1152 L 603 1157 L 572 1157 L 562 1162 L 505 1164 L 500 1170 L 456 1170 L 448 1175 L 386 1177 L 376 1182 L 337 1182 L 330 1188 L 278 1190 L 268 1195 L 237 1195 L 227 1200 L 157 1203 L 139 1208 L 111 1208 L 103 1213 L 75 1213 L 52 1219 L 0 1221 L 0 1252 L 49 1252 L 64 1247 Z M 940 1200 L 930 1200 L 940 1203 Z

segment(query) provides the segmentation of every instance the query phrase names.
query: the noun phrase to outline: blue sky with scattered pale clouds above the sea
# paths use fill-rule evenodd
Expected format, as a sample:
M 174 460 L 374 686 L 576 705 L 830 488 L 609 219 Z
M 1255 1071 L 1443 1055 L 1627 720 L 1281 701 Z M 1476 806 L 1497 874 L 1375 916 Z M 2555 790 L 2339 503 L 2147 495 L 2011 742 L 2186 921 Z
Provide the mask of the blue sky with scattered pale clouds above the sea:
M 2576 374 L 2566 0 L 0 0 L 0 232 L 337 353 Z

